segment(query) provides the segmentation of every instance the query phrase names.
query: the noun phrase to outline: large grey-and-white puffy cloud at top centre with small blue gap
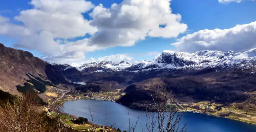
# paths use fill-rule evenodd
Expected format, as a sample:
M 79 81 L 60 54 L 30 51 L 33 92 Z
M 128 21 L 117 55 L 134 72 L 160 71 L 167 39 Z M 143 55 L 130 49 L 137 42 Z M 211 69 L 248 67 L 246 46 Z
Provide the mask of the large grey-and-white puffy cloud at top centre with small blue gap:
M 133 46 L 146 37 L 173 38 L 187 29 L 181 16 L 172 14 L 170 0 L 124 0 L 110 8 L 96 6 L 90 16 L 99 29 L 91 45 Z

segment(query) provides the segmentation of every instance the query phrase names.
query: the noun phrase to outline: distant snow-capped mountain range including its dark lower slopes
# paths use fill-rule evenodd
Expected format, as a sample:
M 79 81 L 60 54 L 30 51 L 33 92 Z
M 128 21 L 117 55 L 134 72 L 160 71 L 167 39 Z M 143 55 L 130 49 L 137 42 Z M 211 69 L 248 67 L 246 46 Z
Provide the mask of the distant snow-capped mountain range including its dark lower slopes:
M 234 51 L 184 53 L 164 50 L 153 60 L 91 62 L 78 67 L 67 64 L 52 65 L 73 82 L 115 81 L 127 86 L 154 77 L 193 76 L 230 68 L 241 70 L 246 66 L 254 67 L 255 50 L 244 53 Z

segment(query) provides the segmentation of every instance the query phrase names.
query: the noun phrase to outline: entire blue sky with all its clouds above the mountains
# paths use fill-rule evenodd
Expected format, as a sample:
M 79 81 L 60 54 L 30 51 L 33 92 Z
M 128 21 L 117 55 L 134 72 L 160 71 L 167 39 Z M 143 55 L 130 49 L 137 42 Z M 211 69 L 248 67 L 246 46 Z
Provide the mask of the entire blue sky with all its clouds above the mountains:
M 52 63 L 256 48 L 255 0 L 2 0 L 0 43 Z

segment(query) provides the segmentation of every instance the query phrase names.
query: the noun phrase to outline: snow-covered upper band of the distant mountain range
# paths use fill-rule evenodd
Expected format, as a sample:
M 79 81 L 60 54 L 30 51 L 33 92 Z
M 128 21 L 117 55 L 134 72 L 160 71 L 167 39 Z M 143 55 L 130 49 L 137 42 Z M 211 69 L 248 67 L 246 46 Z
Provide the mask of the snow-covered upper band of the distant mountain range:
M 136 62 L 91 62 L 76 67 L 82 73 L 106 72 L 106 71 L 150 71 L 155 69 L 203 69 L 207 67 L 244 66 L 256 62 L 256 49 L 244 53 L 234 51 L 199 51 L 195 53 L 184 53 L 164 50 L 162 54 L 153 60 L 142 60 Z M 64 65 L 63 69 L 73 68 Z

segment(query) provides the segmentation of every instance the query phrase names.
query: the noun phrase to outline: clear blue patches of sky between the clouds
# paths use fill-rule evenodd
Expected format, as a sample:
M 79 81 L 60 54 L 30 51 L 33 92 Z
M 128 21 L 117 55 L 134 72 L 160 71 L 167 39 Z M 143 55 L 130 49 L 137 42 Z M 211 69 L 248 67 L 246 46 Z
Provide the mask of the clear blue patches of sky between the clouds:
M 29 2 L 30 0 L 1 1 L 0 15 L 5 18 L 9 18 L 9 23 L 22 26 L 23 23 L 14 20 L 14 17 L 19 16 L 20 11 L 22 10 L 32 9 L 33 6 L 28 4 Z M 105 8 L 110 8 L 113 3 L 120 4 L 122 0 L 91 0 L 91 2 L 95 6 L 102 3 Z M 177 42 L 177 39 L 188 34 L 192 34 L 204 29 L 230 29 L 238 24 L 243 25 L 256 21 L 255 1 L 243 1 L 241 3 L 230 2 L 223 4 L 219 3 L 218 0 L 172 0 L 170 4 L 172 13 L 181 15 L 182 19 L 180 23 L 187 25 L 186 31 L 184 33 L 180 33 L 178 37 L 163 38 L 146 36 L 144 40 L 136 41 L 135 45 L 133 46 L 122 47 L 117 45 L 92 52 L 85 51 L 85 59 L 97 59 L 104 56 L 124 54 L 132 57 L 133 61 L 149 60 L 153 59 L 157 53 L 161 53 L 163 50 L 176 50 L 175 46 L 171 44 Z M 89 13 L 91 13 L 92 10 L 93 9 L 90 9 L 90 11 L 83 13 L 85 19 L 93 19 L 91 16 L 89 16 Z M 87 34 L 85 36 L 78 36 L 67 40 L 77 41 L 90 37 L 91 35 Z M 8 34 L 0 34 L 0 43 L 4 43 L 8 47 L 15 47 L 18 49 L 30 51 L 37 57 L 43 57 L 45 55 L 44 52 L 37 49 L 13 46 L 13 44 L 18 42 L 18 40 L 19 38 L 14 36 Z

